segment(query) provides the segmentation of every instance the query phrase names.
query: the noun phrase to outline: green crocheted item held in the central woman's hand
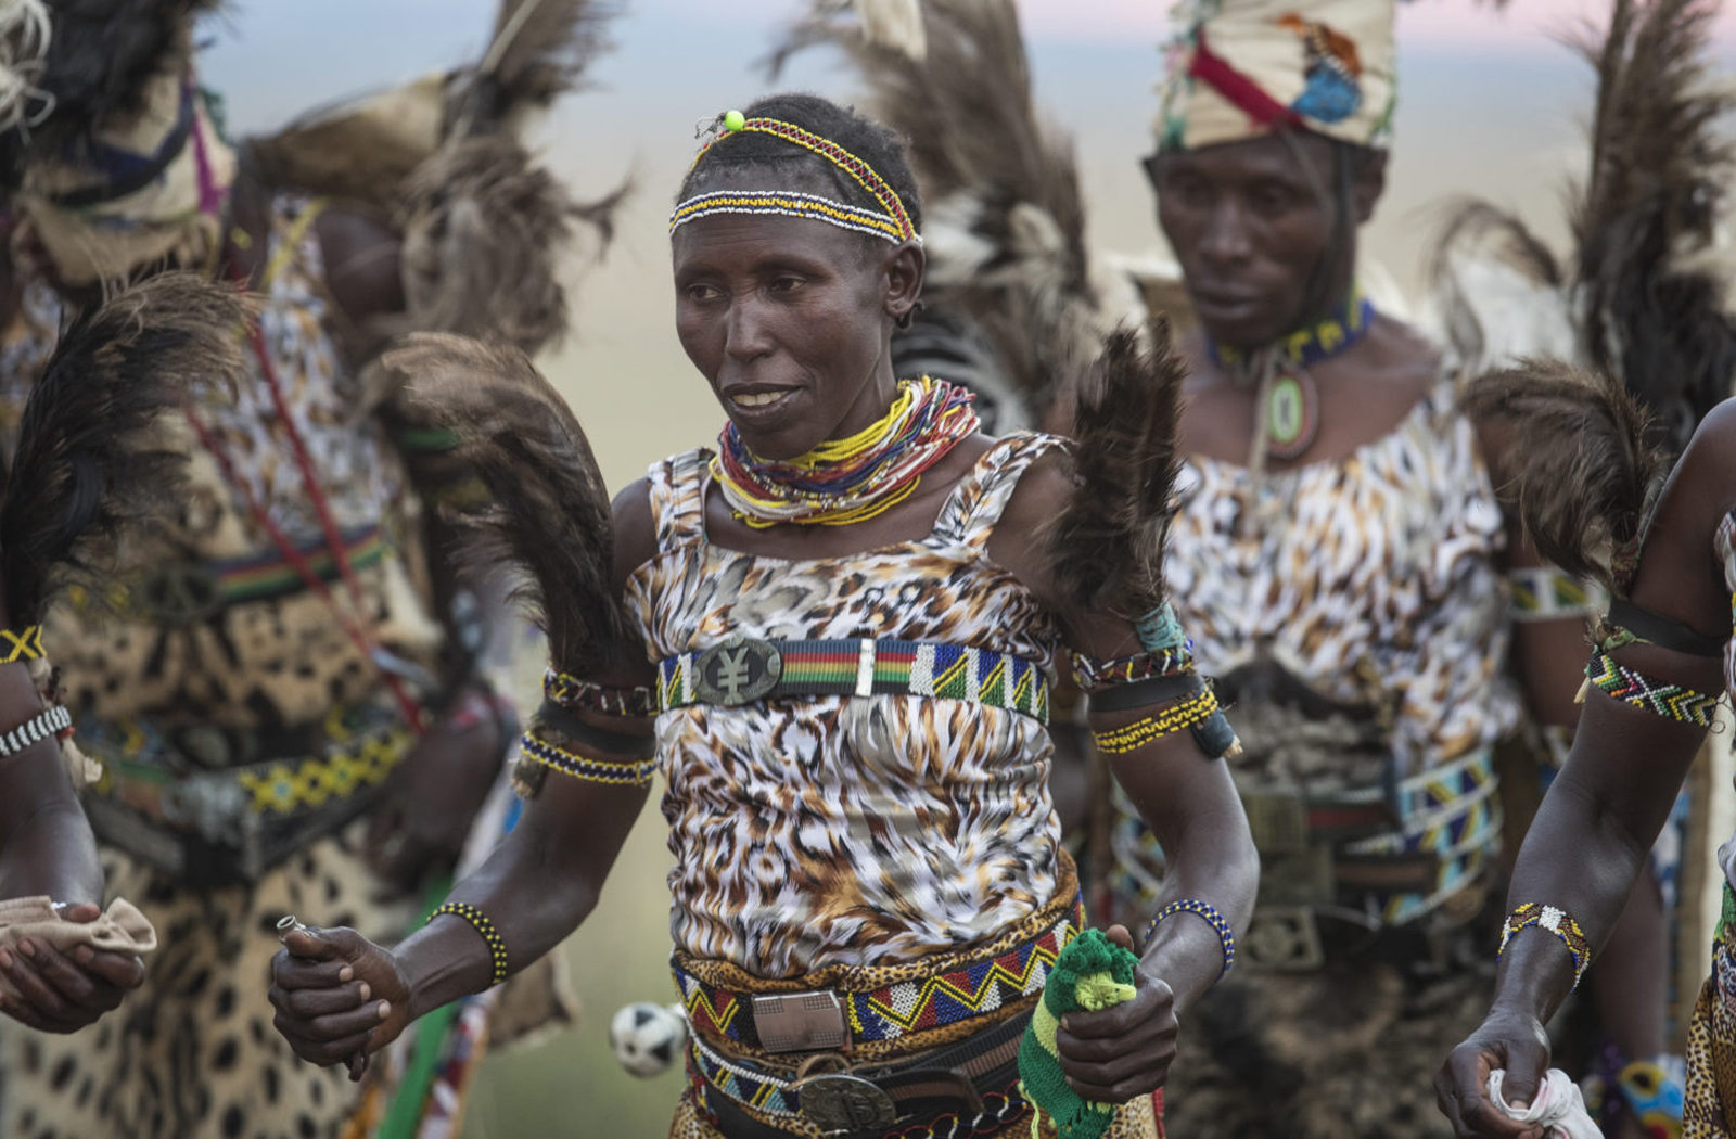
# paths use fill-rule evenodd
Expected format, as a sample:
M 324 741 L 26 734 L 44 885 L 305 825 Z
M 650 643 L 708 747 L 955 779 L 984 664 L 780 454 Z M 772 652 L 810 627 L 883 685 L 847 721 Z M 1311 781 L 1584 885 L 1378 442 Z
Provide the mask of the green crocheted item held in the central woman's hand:
M 1061 1139 L 1099 1139 L 1109 1130 L 1120 1104 L 1092 1103 L 1073 1090 L 1055 1054 L 1055 1028 L 1068 1012 L 1097 1012 L 1132 1000 L 1137 964 L 1132 951 L 1099 929 L 1087 929 L 1061 950 L 1019 1042 L 1019 1090 L 1036 1106 L 1033 1136 L 1043 1116 L 1054 1120 Z

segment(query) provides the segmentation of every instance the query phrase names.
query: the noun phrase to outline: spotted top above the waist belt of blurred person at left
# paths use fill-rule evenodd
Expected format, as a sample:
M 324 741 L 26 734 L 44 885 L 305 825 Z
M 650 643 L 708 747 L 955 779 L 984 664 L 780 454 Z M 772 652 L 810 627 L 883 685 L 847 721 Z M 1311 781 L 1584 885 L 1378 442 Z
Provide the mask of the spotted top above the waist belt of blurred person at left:
M 387 542 L 384 559 L 356 570 L 363 622 L 378 644 L 427 667 L 434 663 L 441 629 L 429 608 L 420 504 L 385 425 L 361 406 L 354 379 L 339 358 L 319 241 L 309 221 L 309 200 L 276 198 L 266 250 L 276 273 L 262 288 L 260 314 L 266 358 L 337 526 L 356 531 L 377 524 Z M 33 285 L 21 319 L 0 342 L 0 365 L 7 366 L 0 387 L 0 405 L 7 410 L 0 422 L 14 427 L 52 347 L 57 306 L 50 302 L 52 293 Z M 273 523 L 293 543 L 319 547 L 319 521 L 264 368 L 252 349 L 247 358 L 250 375 L 234 398 L 198 396 L 198 415 Z M 179 516 L 163 533 L 134 538 L 122 550 L 106 599 L 75 590 L 43 623 L 50 655 L 62 668 L 68 703 L 83 717 L 109 722 L 144 717 L 174 731 L 205 731 L 319 724 L 335 707 L 377 700 L 380 681 L 373 663 L 333 620 L 330 604 L 306 589 L 179 616 L 137 601 L 148 592 L 142 585 L 163 576 L 165 568 L 196 570 L 276 552 L 271 535 L 191 425 L 165 417 L 163 431 L 170 446 L 189 457 Z M 342 585 L 333 585 L 332 594 L 354 609 Z M 201 748 L 201 762 L 208 766 L 248 760 L 215 743 Z M 203 755 L 205 750 L 212 754 Z

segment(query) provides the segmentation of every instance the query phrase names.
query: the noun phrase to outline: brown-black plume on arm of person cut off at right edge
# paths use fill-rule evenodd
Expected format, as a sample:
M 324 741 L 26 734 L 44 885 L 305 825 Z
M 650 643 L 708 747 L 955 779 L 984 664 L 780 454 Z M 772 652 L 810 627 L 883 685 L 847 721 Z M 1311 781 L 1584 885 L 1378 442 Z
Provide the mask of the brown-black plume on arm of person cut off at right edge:
M 1512 429 L 1500 491 L 1538 554 L 1621 592 L 1667 469 L 1634 394 L 1608 375 L 1526 359 L 1472 380 L 1460 405 Z

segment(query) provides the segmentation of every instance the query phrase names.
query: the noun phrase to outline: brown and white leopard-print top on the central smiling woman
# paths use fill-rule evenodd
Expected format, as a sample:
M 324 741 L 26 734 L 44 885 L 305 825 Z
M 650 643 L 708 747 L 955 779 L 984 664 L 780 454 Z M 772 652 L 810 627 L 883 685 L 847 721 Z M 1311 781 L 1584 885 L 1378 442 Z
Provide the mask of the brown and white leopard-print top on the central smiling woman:
M 781 561 L 705 537 L 707 451 L 651 467 L 658 554 L 627 604 L 653 660 L 731 635 L 899 637 L 1038 662 L 1050 615 L 988 559 L 1024 469 L 1059 439 L 1000 439 L 922 540 Z M 970 945 L 1055 891 L 1052 745 L 1028 715 L 878 695 L 696 705 L 658 717 L 675 946 L 790 978 Z

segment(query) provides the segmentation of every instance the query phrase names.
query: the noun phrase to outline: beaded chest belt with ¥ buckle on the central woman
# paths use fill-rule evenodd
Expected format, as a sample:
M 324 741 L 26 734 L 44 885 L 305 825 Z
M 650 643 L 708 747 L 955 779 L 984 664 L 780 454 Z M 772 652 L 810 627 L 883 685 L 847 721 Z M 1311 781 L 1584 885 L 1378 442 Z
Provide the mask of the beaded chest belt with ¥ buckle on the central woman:
M 1049 679 L 1038 665 L 960 644 L 733 637 L 658 663 L 658 705 L 665 710 L 875 695 L 970 700 L 1049 722 Z

